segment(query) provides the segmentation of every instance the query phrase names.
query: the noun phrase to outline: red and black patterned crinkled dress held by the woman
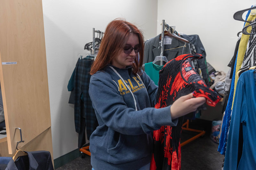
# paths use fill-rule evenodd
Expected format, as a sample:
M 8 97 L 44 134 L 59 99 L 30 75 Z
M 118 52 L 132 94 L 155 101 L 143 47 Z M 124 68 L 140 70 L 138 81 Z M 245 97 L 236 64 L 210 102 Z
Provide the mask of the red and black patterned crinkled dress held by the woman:
M 206 104 L 215 106 L 220 95 L 207 87 L 204 80 L 192 67 L 192 60 L 203 58 L 200 54 L 180 55 L 159 71 L 159 82 L 155 108 L 172 105 L 181 96 L 193 92 L 194 97 L 205 97 Z M 162 126 L 154 131 L 154 150 L 151 158 L 151 170 L 181 169 L 180 135 L 183 117 L 178 118 L 177 126 Z

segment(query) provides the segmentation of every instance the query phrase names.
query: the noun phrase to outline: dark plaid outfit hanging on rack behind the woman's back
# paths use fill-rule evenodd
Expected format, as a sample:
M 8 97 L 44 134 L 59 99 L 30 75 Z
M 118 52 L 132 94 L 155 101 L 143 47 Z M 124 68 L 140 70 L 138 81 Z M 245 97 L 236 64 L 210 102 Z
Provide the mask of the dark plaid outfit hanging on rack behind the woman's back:
M 69 103 L 75 105 L 75 127 L 76 132 L 79 133 L 79 148 L 85 144 L 85 126 L 88 140 L 92 132 L 98 126 L 97 118 L 92 107 L 92 101 L 89 96 L 90 70 L 93 61 L 92 58 L 79 58 L 76 63 L 76 68 L 68 82 L 68 90 L 71 91 Z

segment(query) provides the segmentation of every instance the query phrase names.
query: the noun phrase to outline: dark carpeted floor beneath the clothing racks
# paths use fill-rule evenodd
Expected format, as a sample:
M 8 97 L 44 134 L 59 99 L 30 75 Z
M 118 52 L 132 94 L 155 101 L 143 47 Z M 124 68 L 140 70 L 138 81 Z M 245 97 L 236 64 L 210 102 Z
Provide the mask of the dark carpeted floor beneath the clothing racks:
M 195 121 L 190 122 L 190 128 L 205 130 L 204 137 L 199 137 L 196 140 L 181 147 L 181 169 L 182 170 L 220 170 L 223 162 L 223 155 L 217 149 L 218 144 L 214 143 L 210 137 L 211 122 Z M 190 137 L 195 136 L 196 132 L 182 131 L 181 142 Z M 68 162 L 57 170 L 91 170 L 90 156 L 86 155 L 84 159 L 81 157 Z

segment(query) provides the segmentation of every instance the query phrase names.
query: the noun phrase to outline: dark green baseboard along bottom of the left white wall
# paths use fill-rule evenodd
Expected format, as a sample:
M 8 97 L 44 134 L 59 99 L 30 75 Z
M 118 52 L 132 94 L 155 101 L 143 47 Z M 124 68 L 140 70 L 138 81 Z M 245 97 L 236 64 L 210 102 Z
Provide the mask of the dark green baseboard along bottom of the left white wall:
M 85 144 L 83 147 L 89 146 L 89 144 Z M 54 159 L 54 169 L 59 168 L 60 166 L 65 165 L 66 163 L 82 156 L 81 152 L 79 151 L 79 148 L 75 149 L 74 151 L 68 152 L 65 155 L 62 155 L 59 158 Z

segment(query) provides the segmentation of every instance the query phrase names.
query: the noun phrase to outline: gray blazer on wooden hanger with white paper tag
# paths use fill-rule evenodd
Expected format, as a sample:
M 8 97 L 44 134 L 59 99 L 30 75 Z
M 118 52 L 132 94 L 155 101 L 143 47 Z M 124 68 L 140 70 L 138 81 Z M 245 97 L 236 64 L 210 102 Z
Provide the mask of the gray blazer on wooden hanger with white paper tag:
M 153 62 L 155 57 L 160 55 L 161 53 L 161 47 L 159 47 L 160 35 L 161 34 L 157 35 L 155 38 L 152 38 L 145 43 L 143 64 Z M 186 44 L 186 47 L 176 48 L 176 47 L 184 46 L 185 44 Z M 180 41 L 176 38 L 172 38 L 171 48 L 176 48 L 176 49 L 169 50 L 169 54 L 168 56 L 166 56 L 168 61 L 171 61 L 173 58 L 176 58 L 179 55 L 191 53 L 189 44 L 186 42 Z

